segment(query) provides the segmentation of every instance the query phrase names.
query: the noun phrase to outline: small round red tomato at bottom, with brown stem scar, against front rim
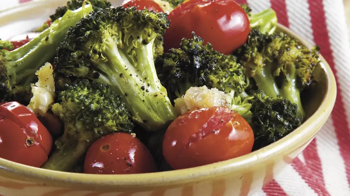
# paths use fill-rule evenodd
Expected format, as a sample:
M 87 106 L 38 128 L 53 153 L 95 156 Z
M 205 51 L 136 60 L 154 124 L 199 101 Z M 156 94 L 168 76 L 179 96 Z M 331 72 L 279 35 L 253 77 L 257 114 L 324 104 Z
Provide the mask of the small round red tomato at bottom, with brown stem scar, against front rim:
M 149 150 L 127 133 L 98 139 L 86 153 L 84 172 L 90 174 L 137 174 L 156 172 Z

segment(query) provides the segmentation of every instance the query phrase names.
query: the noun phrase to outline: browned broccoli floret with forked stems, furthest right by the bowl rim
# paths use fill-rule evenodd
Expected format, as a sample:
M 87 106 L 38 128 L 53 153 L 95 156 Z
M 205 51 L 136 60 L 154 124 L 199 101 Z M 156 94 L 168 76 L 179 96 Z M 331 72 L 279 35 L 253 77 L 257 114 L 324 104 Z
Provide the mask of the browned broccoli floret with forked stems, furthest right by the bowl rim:
M 318 46 L 309 49 L 283 33 L 266 35 L 253 30 L 234 55 L 260 90 L 269 97 L 282 95 L 297 104 L 297 116 L 303 120 L 300 92 L 314 81 L 315 67 L 321 61 L 319 50 Z

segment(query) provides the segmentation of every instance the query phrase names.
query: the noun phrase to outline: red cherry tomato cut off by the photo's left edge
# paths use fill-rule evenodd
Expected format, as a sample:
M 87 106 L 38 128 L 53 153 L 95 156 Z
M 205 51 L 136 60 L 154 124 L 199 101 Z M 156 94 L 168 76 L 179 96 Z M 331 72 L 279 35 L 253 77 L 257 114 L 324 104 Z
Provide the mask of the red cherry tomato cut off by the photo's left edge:
M 52 137 L 48 130 L 17 101 L 0 104 L 0 157 L 40 167 L 48 159 Z

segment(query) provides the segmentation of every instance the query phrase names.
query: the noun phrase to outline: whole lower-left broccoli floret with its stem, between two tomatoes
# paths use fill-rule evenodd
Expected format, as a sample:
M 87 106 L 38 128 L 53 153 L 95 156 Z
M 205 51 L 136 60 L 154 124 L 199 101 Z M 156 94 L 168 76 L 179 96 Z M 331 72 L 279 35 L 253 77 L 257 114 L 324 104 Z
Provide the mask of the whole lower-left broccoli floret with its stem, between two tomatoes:
M 78 79 L 66 85 L 57 100 L 51 110 L 64 122 L 64 133 L 42 168 L 70 171 L 98 138 L 133 129 L 123 100 L 109 85 Z

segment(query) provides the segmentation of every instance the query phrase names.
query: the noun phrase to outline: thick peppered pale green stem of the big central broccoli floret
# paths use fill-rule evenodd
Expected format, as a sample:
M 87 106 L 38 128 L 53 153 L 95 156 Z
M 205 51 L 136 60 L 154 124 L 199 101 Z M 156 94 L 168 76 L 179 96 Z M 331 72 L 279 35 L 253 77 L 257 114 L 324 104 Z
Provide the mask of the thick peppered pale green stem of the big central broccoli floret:
M 155 38 L 148 44 L 143 44 L 142 38 L 139 38 L 139 43 L 136 43 L 137 62 L 134 63 L 127 57 L 127 48 L 119 48 L 116 40 L 107 37 L 104 56 L 111 65 L 99 62 L 97 70 L 101 71 L 100 77 L 94 80 L 110 84 L 113 91 L 123 97 L 133 120 L 146 129 L 158 130 L 166 126 L 175 118 L 175 111 L 156 75 L 153 60 Z

